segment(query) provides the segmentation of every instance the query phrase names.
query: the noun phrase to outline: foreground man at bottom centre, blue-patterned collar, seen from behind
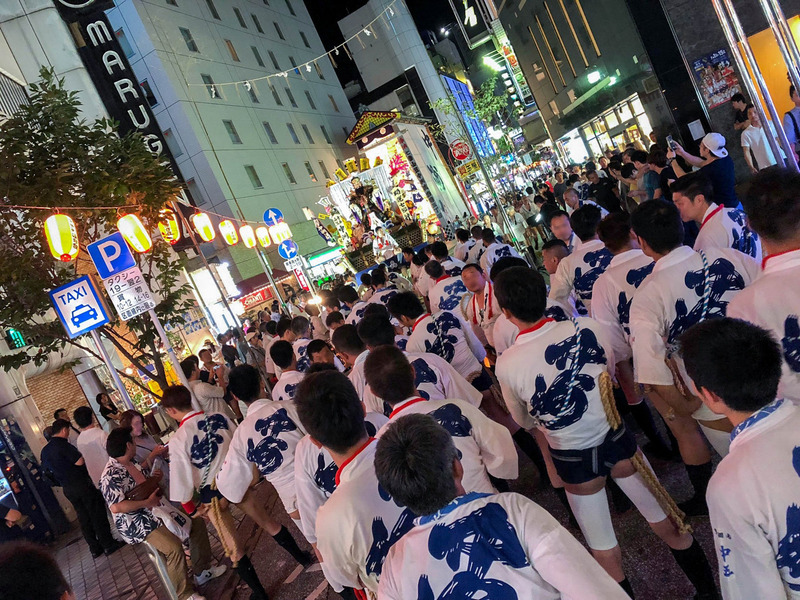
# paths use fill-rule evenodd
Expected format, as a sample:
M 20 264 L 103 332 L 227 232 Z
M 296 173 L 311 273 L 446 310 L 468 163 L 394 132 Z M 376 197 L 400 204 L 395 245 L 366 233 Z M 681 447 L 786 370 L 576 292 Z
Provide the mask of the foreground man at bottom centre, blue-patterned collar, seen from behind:
M 547 511 L 519 494 L 469 492 L 454 442 L 424 414 L 378 440 L 378 480 L 419 515 L 389 551 L 380 598 L 628 598 Z

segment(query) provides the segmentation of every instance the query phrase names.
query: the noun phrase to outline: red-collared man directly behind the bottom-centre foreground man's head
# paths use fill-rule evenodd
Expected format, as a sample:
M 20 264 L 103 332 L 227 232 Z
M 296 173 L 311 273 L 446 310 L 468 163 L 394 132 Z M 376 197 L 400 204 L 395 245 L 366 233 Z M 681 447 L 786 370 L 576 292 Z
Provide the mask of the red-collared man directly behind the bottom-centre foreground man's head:
M 497 490 L 489 475 L 508 480 L 519 475 L 517 451 L 508 430 L 464 400 L 420 396 L 414 386 L 414 368 L 398 348 L 381 346 L 370 352 L 364 375 L 372 392 L 392 407 L 389 423 L 407 414 L 427 414 L 453 436 L 466 490 L 493 494 Z M 377 437 L 385 431 L 386 426 Z

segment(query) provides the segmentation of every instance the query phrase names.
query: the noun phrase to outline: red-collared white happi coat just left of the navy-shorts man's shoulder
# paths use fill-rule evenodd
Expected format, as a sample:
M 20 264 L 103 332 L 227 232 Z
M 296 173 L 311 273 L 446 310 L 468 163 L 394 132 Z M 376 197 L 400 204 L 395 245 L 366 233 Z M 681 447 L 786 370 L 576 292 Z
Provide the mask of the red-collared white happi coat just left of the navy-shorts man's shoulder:
M 472 330 L 450 311 L 441 311 L 434 315 L 425 314 L 414 323 L 406 350 L 441 356 L 453 365 L 462 377 L 470 381 L 482 369 L 475 355 L 477 349 L 473 349 L 473 345 L 479 345 L 474 336 Z M 474 340 L 473 343 L 470 343 L 472 341 L 470 338 Z M 485 356 L 483 346 L 480 350 Z

